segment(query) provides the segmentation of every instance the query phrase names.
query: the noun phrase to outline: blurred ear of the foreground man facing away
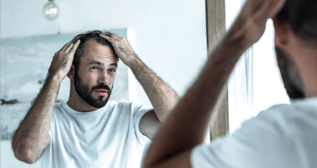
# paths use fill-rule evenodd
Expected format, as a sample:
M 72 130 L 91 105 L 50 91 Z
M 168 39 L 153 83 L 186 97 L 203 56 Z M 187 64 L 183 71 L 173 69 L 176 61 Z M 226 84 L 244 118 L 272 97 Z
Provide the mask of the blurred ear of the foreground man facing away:
M 280 48 L 285 48 L 289 43 L 291 29 L 286 21 L 280 18 L 273 18 L 275 29 L 275 44 Z

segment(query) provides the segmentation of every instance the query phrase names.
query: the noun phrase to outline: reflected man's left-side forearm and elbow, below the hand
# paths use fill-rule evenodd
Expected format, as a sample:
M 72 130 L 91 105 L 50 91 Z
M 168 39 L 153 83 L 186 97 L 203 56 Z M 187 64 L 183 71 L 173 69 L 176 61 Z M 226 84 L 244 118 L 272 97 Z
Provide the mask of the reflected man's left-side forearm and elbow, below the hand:
M 49 144 L 49 127 L 61 82 L 48 76 L 34 104 L 16 130 L 12 148 L 16 158 L 34 163 Z

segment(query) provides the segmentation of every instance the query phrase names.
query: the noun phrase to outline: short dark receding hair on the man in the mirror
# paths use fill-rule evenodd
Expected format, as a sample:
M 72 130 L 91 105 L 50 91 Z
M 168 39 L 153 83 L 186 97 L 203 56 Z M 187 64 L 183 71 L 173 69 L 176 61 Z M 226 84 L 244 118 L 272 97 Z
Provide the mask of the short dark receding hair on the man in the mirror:
M 80 58 L 84 54 L 84 47 L 88 41 L 94 40 L 95 42 L 98 42 L 101 45 L 105 45 L 113 49 L 112 45 L 110 44 L 110 42 L 108 42 L 108 40 L 99 36 L 101 33 L 114 34 L 107 31 L 102 32 L 99 30 L 93 30 L 93 31 L 87 31 L 86 33 L 83 33 L 83 34 L 79 34 L 73 38 L 72 42 L 76 42 L 77 40 L 80 40 L 80 44 L 76 49 L 74 60 L 73 60 L 73 64 L 76 69 L 80 65 Z M 119 61 L 119 58 L 118 58 L 118 61 Z

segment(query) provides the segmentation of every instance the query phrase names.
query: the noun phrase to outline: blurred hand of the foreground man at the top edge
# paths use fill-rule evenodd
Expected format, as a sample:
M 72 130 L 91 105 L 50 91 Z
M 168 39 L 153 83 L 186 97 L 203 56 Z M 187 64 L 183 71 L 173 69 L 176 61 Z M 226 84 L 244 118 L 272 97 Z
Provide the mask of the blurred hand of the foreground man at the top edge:
M 243 49 L 256 43 L 264 33 L 268 18 L 274 18 L 286 0 L 248 0 L 227 34 Z

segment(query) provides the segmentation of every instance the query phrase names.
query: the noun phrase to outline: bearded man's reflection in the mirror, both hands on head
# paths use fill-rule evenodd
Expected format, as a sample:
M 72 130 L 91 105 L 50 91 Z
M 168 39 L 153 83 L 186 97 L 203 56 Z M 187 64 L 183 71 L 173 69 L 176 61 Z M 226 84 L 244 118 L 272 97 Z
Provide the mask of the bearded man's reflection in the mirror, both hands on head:
M 154 109 L 127 100 L 108 101 L 119 58 L 131 68 Z M 54 105 L 66 76 L 71 81 L 69 100 Z M 177 99 L 126 39 L 87 32 L 55 53 L 12 148 L 26 163 L 42 155 L 42 167 L 139 167 L 144 144 Z

